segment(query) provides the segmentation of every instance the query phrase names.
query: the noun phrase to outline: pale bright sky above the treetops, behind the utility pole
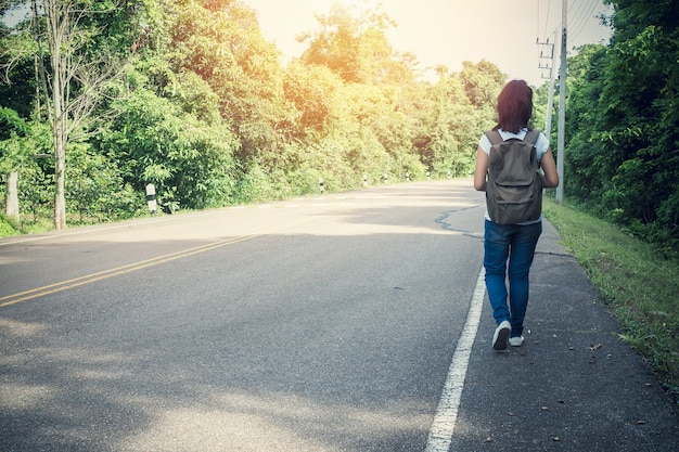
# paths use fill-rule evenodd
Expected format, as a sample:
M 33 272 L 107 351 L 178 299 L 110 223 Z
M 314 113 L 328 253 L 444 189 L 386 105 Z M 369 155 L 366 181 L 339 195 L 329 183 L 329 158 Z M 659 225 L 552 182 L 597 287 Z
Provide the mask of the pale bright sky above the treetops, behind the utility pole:
M 337 0 L 242 0 L 257 11 L 265 38 L 277 44 L 284 60 L 299 56 L 305 44 L 295 37 L 318 29 L 315 15 L 325 15 Z M 397 23 L 386 31 L 397 52 L 417 55 L 422 68 L 445 65 L 451 72 L 462 62 L 496 64 L 510 79 L 540 86 L 549 78 L 539 66 L 558 75 L 561 52 L 562 4 L 567 3 L 567 55 L 585 43 L 607 43 L 611 29 L 599 15 L 610 14 L 602 0 L 362 0 Z M 356 0 L 344 1 L 356 4 Z M 556 43 L 554 60 L 549 46 Z M 540 51 L 542 57 L 540 57 Z M 433 70 L 427 73 L 433 79 Z

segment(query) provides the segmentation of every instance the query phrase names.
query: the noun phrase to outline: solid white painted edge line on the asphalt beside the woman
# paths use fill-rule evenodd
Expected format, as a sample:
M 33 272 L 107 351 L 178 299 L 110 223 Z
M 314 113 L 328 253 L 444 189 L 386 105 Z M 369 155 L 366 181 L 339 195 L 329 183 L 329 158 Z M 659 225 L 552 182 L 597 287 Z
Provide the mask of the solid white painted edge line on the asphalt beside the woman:
M 434 422 L 430 429 L 430 436 L 426 440 L 425 452 L 449 452 L 452 442 L 452 434 L 458 421 L 458 411 L 460 408 L 460 399 L 462 398 L 462 389 L 464 389 L 464 379 L 466 377 L 466 369 L 472 354 L 474 339 L 478 332 L 478 323 L 481 321 L 481 312 L 483 308 L 484 297 L 486 295 L 486 272 L 482 267 L 476 280 L 476 287 L 472 296 L 470 311 L 466 314 L 464 328 L 458 340 L 458 346 L 452 354 L 452 362 L 448 370 L 448 376 L 444 384 L 444 390 L 436 408 Z

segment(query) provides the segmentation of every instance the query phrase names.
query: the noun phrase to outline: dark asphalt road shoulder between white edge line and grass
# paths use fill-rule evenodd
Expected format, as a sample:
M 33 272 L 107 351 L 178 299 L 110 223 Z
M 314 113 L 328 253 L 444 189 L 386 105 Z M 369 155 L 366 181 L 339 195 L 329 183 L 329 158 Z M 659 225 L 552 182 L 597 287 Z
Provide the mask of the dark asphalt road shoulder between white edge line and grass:
M 497 353 L 484 301 L 450 450 L 675 451 L 671 400 L 545 222 L 526 340 Z

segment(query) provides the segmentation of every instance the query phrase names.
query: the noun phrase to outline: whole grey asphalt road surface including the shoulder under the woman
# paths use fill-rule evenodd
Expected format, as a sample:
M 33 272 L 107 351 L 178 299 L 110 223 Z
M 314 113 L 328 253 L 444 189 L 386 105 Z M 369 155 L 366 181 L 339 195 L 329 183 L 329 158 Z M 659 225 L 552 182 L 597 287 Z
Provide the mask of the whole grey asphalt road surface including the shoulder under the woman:
M 0 241 L 0 450 L 676 451 L 549 224 L 526 345 L 490 350 L 483 206 L 409 183 Z

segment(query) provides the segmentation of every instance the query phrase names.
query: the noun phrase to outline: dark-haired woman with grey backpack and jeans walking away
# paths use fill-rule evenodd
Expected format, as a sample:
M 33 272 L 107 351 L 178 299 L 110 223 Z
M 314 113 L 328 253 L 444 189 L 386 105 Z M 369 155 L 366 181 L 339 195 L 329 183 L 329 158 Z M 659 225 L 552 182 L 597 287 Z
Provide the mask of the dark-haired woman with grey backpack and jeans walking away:
M 547 137 L 528 127 L 533 115 L 530 87 L 524 80 L 508 82 L 498 96 L 497 111 L 498 125 L 478 142 L 474 189 L 486 192 L 484 267 L 486 289 L 497 323 L 492 348 L 505 351 L 509 346 L 521 347 L 524 341 L 528 272 L 542 233 L 541 191 L 559 185 L 559 175 Z M 538 163 L 543 172 L 538 171 Z M 528 165 L 533 165 L 533 169 Z M 526 175 L 535 179 L 531 186 L 536 191 L 528 196 L 531 204 L 525 203 L 521 212 L 512 214 L 512 209 L 526 199 L 525 193 L 516 195 L 517 191 L 528 190 L 524 184 Z M 513 196 L 512 193 L 523 201 L 515 201 L 518 197 L 503 199 L 503 196 Z

